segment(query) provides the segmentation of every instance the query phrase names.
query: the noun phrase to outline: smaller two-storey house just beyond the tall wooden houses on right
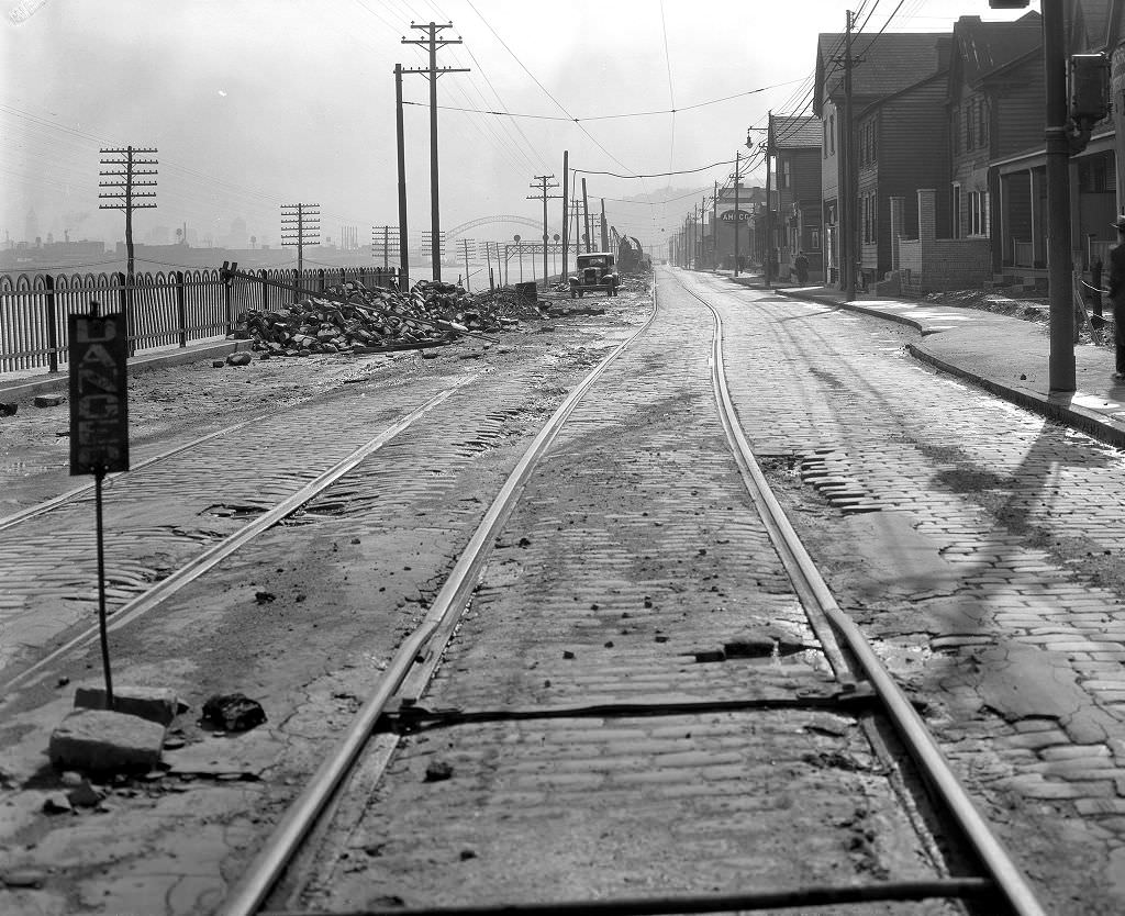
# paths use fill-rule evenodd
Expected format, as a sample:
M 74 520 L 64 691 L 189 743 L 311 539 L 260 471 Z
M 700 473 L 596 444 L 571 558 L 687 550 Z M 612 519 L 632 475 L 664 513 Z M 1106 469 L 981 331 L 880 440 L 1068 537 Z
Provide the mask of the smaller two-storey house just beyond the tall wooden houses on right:
M 777 192 L 772 195 L 773 239 L 768 246 L 781 276 L 792 271 L 802 252 L 809 261 L 809 279 L 822 280 L 825 276 L 820 142 L 820 118 L 770 116 L 766 150 L 774 160 Z

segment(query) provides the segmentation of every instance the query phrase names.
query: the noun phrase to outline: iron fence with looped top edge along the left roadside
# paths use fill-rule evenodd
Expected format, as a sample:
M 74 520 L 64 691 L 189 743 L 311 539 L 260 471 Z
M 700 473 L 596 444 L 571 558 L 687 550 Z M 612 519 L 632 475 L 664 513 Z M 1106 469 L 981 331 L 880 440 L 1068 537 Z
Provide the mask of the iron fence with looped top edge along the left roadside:
M 344 281 L 368 289 L 396 282 L 394 270 L 362 267 L 253 273 L 225 284 L 218 269 L 170 270 L 135 273 L 132 285 L 124 273 L 0 275 L 0 372 L 57 372 L 69 357 L 68 315 L 88 314 L 91 302 L 102 313 L 128 315 L 134 353 L 234 333 L 248 309 L 278 312 L 295 302 L 296 294 L 278 284 L 323 293 Z

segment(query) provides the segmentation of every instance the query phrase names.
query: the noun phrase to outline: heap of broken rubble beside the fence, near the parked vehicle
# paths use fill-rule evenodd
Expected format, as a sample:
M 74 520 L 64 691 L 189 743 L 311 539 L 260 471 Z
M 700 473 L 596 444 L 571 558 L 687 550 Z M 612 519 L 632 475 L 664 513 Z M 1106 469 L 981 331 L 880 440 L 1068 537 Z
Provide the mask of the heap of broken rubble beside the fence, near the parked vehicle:
M 403 294 L 345 282 L 281 312 L 250 309 L 242 322 L 254 349 L 296 357 L 440 347 L 541 316 L 534 303 L 506 289 L 470 295 L 456 284 L 421 281 Z

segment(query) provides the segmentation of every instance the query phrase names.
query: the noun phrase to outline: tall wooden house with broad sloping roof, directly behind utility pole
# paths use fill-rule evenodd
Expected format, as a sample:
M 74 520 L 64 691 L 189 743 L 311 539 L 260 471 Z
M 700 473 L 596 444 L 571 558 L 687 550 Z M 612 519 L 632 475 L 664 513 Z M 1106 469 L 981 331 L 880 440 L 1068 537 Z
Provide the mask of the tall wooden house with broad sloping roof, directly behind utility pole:
M 812 100 L 822 132 L 821 213 L 828 282 L 844 279 L 839 200 L 846 136 L 844 43 L 845 36 L 838 33 L 819 36 Z M 946 33 L 882 33 L 853 41 L 853 150 L 857 159 L 853 173 L 858 182 L 858 218 L 853 225 L 861 230 L 858 267 L 865 278 L 875 279 L 891 269 L 891 197 L 904 198 L 903 217 L 907 224 L 917 225 L 917 198 L 906 189 L 945 183 L 946 128 L 934 124 L 942 109 L 938 97 L 951 45 Z M 904 123 L 897 120 L 903 117 Z M 939 217 L 948 222 L 944 209 Z

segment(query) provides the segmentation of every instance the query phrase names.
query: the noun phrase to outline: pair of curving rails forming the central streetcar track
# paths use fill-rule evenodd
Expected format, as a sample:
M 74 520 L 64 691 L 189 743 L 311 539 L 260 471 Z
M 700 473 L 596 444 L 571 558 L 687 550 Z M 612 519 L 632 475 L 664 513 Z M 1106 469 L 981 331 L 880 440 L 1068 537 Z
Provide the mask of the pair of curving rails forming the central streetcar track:
M 738 470 L 745 486 L 758 509 L 762 521 L 766 526 L 770 539 L 778 551 L 782 564 L 790 575 L 802 605 L 806 608 L 809 622 L 821 641 L 837 682 L 842 685 L 845 694 L 850 693 L 855 695 L 854 662 L 845 658 L 845 653 L 836 643 L 835 634 L 840 632 L 846 641 L 847 652 L 852 658 L 858 659 L 860 666 L 867 680 L 874 685 L 875 692 L 884 707 L 890 711 L 891 718 L 897 724 L 906 722 L 904 728 L 901 726 L 900 728 L 904 731 L 906 742 L 912 755 L 921 769 L 932 774 L 935 782 L 940 787 L 943 797 L 953 809 L 958 824 L 972 837 L 974 851 L 986 863 L 991 877 L 989 879 L 980 879 L 950 878 L 946 875 L 929 882 L 914 882 L 912 888 L 907 887 L 910 882 L 883 882 L 882 887 L 868 886 L 866 889 L 849 889 L 847 891 L 842 891 L 840 888 L 832 887 L 804 888 L 802 891 L 808 896 L 800 899 L 792 891 L 781 891 L 776 893 L 759 892 L 749 896 L 727 895 L 721 898 L 712 895 L 694 898 L 663 898 L 659 900 L 616 900 L 606 901 L 595 907 L 592 907 L 588 902 L 569 901 L 542 907 L 534 905 L 521 906 L 519 909 L 528 913 L 559 913 L 578 908 L 584 911 L 604 910 L 605 913 L 702 913 L 732 908 L 756 909 L 763 908 L 766 905 L 792 906 L 798 902 L 806 905 L 843 902 L 847 899 L 926 899 L 930 897 L 969 899 L 982 895 L 987 896 L 999 887 L 1011 902 L 1015 913 L 1022 916 L 1038 916 L 1042 914 L 1042 909 L 1024 883 L 1023 875 L 1011 864 L 1010 860 L 1007 859 L 1007 854 L 988 832 L 983 820 L 975 812 L 968 797 L 964 796 L 960 784 L 952 775 L 952 772 L 948 771 L 939 752 L 937 752 L 936 745 L 929 737 L 920 718 L 910 707 L 904 695 L 901 694 L 898 686 L 891 681 L 885 670 L 882 668 L 870 646 L 866 646 L 858 629 L 836 605 L 827 585 L 813 566 L 808 553 L 800 544 L 795 531 L 785 519 L 784 512 L 777 503 L 776 497 L 770 491 L 768 484 L 758 468 L 745 434 L 738 424 L 737 413 L 727 390 L 722 361 L 721 316 L 701 296 L 691 290 L 687 291 L 702 302 L 713 316 L 714 332 L 708 367 L 711 371 L 713 393 L 722 417 L 723 432 L 727 437 L 730 451 L 738 465 Z M 649 323 L 651 323 L 655 316 L 656 293 L 654 289 L 654 312 Z M 595 372 L 591 374 L 575 389 L 572 396 L 564 402 L 564 405 L 560 406 L 559 411 L 551 417 L 551 421 L 536 438 L 532 447 L 528 450 L 524 458 L 521 459 L 516 469 L 513 470 L 508 482 L 497 495 L 488 513 L 486 513 L 484 521 L 477 529 L 477 533 L 461 555 L 453 574 L 446 582 L 438 599 L 431 605 L 421 627 L 399 647 L 395 661 L 388 667 L 387 675 L 380 680 L 375 692 L 358 713 L 336 752 L 324 762 L 300 798 L 287 811 L 267 846 L 259 853 L 254 863 L 244 873 L 243 879 L 227 897 L 222 909 L 222 913 L 226 914 L 226 916 L 240 916 L 240 914 L 249 916 L 249 914 L 259 911 L 259 907 L 261 907 L 271 891 L 273 891 L 279 877 L 289 866 L 294 856 L 298 854 L 307 855 L 307 853 L 302 853 L 302 844 L 306 842 L 310 834 L 316 833 L 320 835 L 320 832 L 324 829 L 323 821 L 326 812 L 335 816 L 340 809 L 342 797 L 340 790 L 345 784 L 345 780 L 353 767 L 362 772 L 362 782 L 364 785 L 371 787 L 379 781 L 398 743 L 396 736 L 386 734 L 372 735 L 377 724 L 380 721 L 380 717 L 386 722 L 386 710 L 394 698 L 402 700 L 400 709 L 410 709 L 421 698 L 438 666 L 441 664 L 450 638 L 459 626 L 462 610 L 469 599 L 471 585 L 479 578 L 483 564 L 490 553 L 490 544 L 496 539 L 497 532 L 503 530 L 504 521 L 514 510 L 514 504 L 520 496 L 522 486 L 533 472 L 539 457 L 554 441 L 559 428 L 566 421 L 567 415 L 569 415 L 570 410 L 573 410 L 577 399 L 593 383 L 594 377 L 600 375 L 610 360 L 644 333 L 647 327 L 648 324 L 634 338 L 615 349 L 597 367 Z M 556 421 L 558 421 L 557 425 Z M 605 712 L 605 710 L 602 711 Z M 494 711 L 480 715 L 500 713 Z M 868 737 L 872 737 L 870 731 Z M 362 758 L 364 754 L 367 756 L 366 761 Z M 911 816 L 909 811 L 908 816 Z M 288 899 L 291 900 L 292 895 L 296 892 L 290 888 Z M 850 893 L 858 896 L 849 897 L 848 895 Z M 872 896 L 863 896 L 868 893 Z M 916 896 L 911 896 L 911 893 Z M 412 908 L 408 911 L 417 914 L 485 914 L 498 913 L 501 909 L 501 907 L 496 906 L 485 906 L 440 909 Z M 511 907 L 504 907 L 503 909 L 510 910 Z M 279 916 L 282 913 L 290 913 L 289 909 L 271 911 L 278 913 Z M 364 910 L 364 913 L 376 911 L 379 910 Z

